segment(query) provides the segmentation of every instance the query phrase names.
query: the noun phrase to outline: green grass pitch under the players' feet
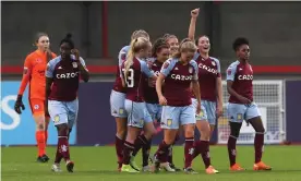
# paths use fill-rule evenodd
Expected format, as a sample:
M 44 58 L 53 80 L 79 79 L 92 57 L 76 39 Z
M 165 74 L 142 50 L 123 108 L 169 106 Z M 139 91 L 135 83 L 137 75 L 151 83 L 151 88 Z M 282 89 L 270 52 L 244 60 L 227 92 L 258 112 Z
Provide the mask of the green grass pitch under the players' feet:
M 156 147 L 153 148 L 153 150 Z M 183 148 L 174 147 L 174 162 L 183 166 Z M 301 147 L 300 146 L 266 146 L 264 161 L 273 166 L 273 171 L 253 171 L 254 150 L 252 146 L 238 147 L 238 162 L 248 170 L 244 172 L 228 171 L 226 146 L 210 148 L 212 162 L 220 171 L 219 174 L 207 176 L 202 159 L 194 160 L 193 167 L 198 174 L 179 173 L 119 173 L 116 171 L 113 147 L 71 147 L 71 156 L 75 162 L 73 173 L 53 173 L 51 162 L 37 164 L 35 147 L 2 147 L 1 170 L 3 181 L 301 181 Z M 48 148 L 53 158 L 55 147 Z M 53 160 L 53 159 L 51 159 Z M 141 154 L 136 158 L 141 162 Z M 166 179 L 166 180 L 165 180 Z

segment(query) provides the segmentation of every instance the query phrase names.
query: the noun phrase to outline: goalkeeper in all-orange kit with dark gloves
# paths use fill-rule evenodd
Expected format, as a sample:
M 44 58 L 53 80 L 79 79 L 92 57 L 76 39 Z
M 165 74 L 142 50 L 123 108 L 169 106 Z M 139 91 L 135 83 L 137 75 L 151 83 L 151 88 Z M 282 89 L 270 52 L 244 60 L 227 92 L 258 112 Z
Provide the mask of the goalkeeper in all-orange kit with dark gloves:
M 57 57 L 49 49 L 49 37 L 45 33 L 38 33 L 35 39 L 35 46 L 37 50 L 29 53 L 24 63 L 24 73 L 21 82 L 17 99 L 14 105 L 14 110 L 17 113 L 22 113 L 21 109 L 25 109 L 22 102 L 22 95 L 29 83 L 29 106 L 33 112 L 34 120 L 36 122 L 36 141 L 38 147 L 38 162 L 47 162 L 49 160 L 46 155 L 46 145 L 48 138 L 48 124 L 49 116 L 45 114 L 45 70 L 49 60 Z

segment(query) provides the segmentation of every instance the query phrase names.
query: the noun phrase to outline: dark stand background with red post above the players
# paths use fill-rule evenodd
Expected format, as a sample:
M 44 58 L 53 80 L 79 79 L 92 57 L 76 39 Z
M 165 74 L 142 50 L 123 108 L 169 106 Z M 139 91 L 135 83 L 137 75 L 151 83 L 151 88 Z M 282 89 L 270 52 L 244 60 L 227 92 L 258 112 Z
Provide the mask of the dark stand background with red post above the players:
M 2 67 L 21 67 L 39 31 L 49 34 L 55 52 L 70 32 L 87 64 L 115 64 L 135 29 L 146 29 L 153 40 L 165 33 L 186 37 L 194 8 L 201 8 L 196 36 L 209 35 L 222 70 L 234 60 L 231 44 L 238 36 L 250 39 L 254 65 L 301 64 L 300 2 L 1 3 Z

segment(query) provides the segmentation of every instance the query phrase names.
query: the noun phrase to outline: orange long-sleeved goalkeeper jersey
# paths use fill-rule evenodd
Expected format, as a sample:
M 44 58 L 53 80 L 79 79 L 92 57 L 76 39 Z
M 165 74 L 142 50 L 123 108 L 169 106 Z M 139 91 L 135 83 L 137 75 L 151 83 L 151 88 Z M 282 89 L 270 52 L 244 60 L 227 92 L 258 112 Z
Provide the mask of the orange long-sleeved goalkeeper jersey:
M 57 55 L 51 53 L 52 59 Z M 24 75 L 29 79 L 29 98 L 45 99 L 46 79 L 45 71 L 47 65 L 47 52 L 36 50 L 29 53 L 24 62 Z M 26 83 L 25 83 L 26 82 Z M 19 94 L 23 94 L 27 85 L 27 80 L 22 80 Z

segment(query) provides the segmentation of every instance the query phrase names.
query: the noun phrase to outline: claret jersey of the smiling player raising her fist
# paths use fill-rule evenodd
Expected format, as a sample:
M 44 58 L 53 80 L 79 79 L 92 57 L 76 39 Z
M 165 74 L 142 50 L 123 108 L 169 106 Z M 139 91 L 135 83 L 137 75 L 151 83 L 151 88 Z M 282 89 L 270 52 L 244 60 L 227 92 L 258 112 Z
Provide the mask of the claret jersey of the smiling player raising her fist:
M 216 101 L 216 82 L 220 77 L 219 60 L 213 57 L 204 59 L 197 52 L 195 53 L 195 61 L 198 67 L 198 84 L 201 87 L 201 99 Z M 193 95 L 195 98 L 195 96 Z

